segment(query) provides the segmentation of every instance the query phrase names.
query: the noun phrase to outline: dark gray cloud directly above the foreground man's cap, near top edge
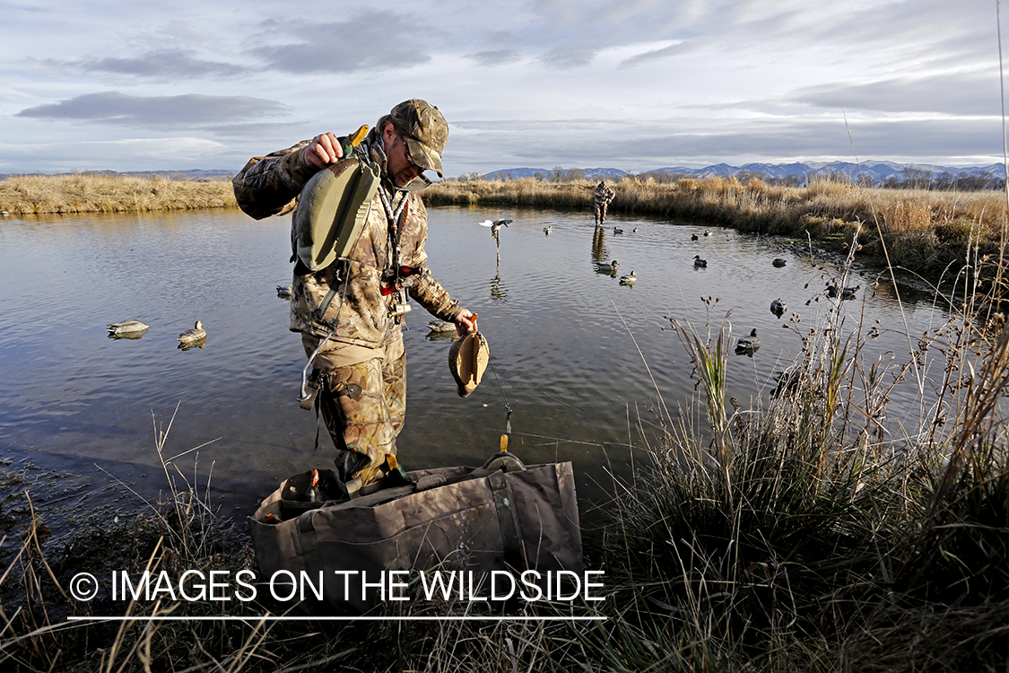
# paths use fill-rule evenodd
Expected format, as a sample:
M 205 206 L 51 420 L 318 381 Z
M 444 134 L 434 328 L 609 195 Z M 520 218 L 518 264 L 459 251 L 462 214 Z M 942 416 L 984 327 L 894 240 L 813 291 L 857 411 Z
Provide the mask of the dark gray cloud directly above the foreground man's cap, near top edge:
M 270 33 L 276 26 L 266 25 Z M 426 64 L 440 31 L 393 12 L 371 12 L 350 21 L 284 26 L 303 41 L 251 50 L 269 68 L 288 73 L 354 73 Z M 424 35 L 424 39 L 410 39 Z

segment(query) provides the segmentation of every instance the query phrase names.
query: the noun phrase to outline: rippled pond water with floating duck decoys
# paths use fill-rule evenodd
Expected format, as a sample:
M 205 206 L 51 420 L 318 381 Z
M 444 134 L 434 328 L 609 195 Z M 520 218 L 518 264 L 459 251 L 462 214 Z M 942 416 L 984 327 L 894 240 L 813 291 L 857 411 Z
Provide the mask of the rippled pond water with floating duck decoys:
M 500 263 L 486 219 L 500 231 Z M 702 332 L 702 296 L 731 310 L 734 338 L 757 328 L 755 357 L 731 357 L 728 394 L 747 404 L 767 398 L 772 375 L 800 352 L 782 329 L 834 302 L 821 299 L 832 269 L 780 243 L 703 223 L 612 216 L 596 230 L 586 213 L 431 208 L 430 265 L 463 306 L 479 314 L 491 364 L 469 398 L 455 392 L 450 339 L 432 338 L 430 316 L 408 315 L 408 414 L 400 438 L 408 468 L 479 464 L 495 450 L 513 412 L 510 448 L 527 462 L 571 460 L 583 506 L 612 491 L 607 469 L 631 473 L 635 451 L 660 435 L 653 410 L 696 399 L 692 366 L 664 316 Z M 547 235 L 544 229 L 549 227 Z M 624 233 L 613 232 L 613 227 Z M 709 235 L 705 236 L 704 232 Z M 697 240 L 691 240 L 696 234 Z M 62 217 L 0 222 L 0 451 L 93 480 L 96 490 L 128 484 L 156 497 L 165 453 L 226 516 L 243 516 L 287 476 L 329 467 L 325 429 L 313 450 L 316 418 L 296 402 L 305 356 L 288 330 L 290 220 L 256 222 L 237 210 Z M 707 260 L 695 268 L 693 258 Z M 772 264 L 787 260 L 784 267 Z M 615 259 L 633 287 L 597 272 Z M 920 335 L 945 316 L 931 297 L 856 273 L 856 301 L 840 304 L 888 329 L 872 342 L 907 352 L 903 324 Z M 808 284 L 808 287 L 806 287 Z M 781 298 L 782 318 L 769 310 Z M 147 323 L 139 339 L 110 339 L 106 325 Z M 203 322 L 205 347 L 177 348 L 177 336 Z M 893 397 L 900 408 L 902 392 Z M 903 402 L 913 415 L 913 391 Z M 913 425 L 913 420 L 910 422 Z M 583 511 L 586 510 L 583 507 Z

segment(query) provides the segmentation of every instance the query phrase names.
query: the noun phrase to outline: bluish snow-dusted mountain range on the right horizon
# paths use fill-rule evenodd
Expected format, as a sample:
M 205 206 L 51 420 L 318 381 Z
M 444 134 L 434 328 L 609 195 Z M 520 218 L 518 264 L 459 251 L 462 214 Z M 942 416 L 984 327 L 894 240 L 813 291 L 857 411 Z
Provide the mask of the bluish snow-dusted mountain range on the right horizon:
M 650 173 L 666 173 L 675 175 L 685 175 L 685 176 L 696 176 L 698 178 L 707 178 L 712 176 L 738 176 L 741 173 L 752 172 L 761 173 L 768 178 L 783 179 L 789 176 L 796 176 L 802 178 L 803 176 L 815 175 L 815 176 L 826 176 L 826 175 L 842 175 L 851 178 L 852 180 L 858 180 L 860 176 L 865 176 L 867 178 L 872 178 L 875 181 L 883 182 L 889 178 L 901 178 L 905 175 L 905 171 L 911 170 L 914 172 L 920 172 L 918 175 L 927 174 L 929 178 L 937 178 L 943 173 L 947 173 L 950 176 L 959 176 L 966 173 L 969 176 L 981 176 L 985 173 L 991 174 L 993 176 L 1002 176 L 1005 169 L 1001 163 L 990 163 L 988 165 L 972 165 L 972 166 L 946 166 L 946 165 L 933 165 L 930 163 L 894 163 L 893 161 L 866 161 L 861 166 L 858 163 L 853 163 L 849 161 L 803 161 L 795 163 L 745 163 L 743 165 L 728 165 L 727 163 L 715 163 L 712 165 L 706 165 L 703 169 L 688 169 L 686 166 L 668 166 L 665 169 L 656 169 L 654 171 L 642 172 L 637 175 L 647 175 Z M 504 169 L 501 171 L 494 171 L 492 173 L 486 174 L 487 180 L 508 180 L 517 178 L 532 178 L 537 174 L 545 176 L 547 178 L 553 176 L 555 173 L 554 169 Z M 565 171 L 567 173 L 567 171 Z M 607 180 L 620 180 L 625 176 L 629 176 L 627 171 L 621 171 L 620 169 L 581 169 L 582 175 L 586 178 L 591 179 L 607 179 Z

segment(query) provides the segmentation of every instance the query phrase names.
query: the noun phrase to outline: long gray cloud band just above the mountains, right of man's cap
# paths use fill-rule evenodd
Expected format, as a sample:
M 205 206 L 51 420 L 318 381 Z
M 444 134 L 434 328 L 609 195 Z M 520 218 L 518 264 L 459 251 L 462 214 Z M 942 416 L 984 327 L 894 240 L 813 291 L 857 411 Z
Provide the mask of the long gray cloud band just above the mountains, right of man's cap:
M 446 148 L 446 166 L 596 166 L 647 171 L 678 164 L 725 161 L 779 163 L 783 160 L 854 160 L 844 122 L 776 119 L 722 128 L 665 124 L 666 132 L 621 132 L 621 125 L 592 120 L 460 122 L 469 133 Z M 1001 126 L 996 119 L 860 121 L 851 125 L 859 157 L 935 162 L 936 157 L 1000 156 Z M 604 141 L 620 135 L 622 142 Z M 508 138 L 514 136 L 515 142 Z M 573 142 L 572 138 L 577 138 Z M 942 159 L 939 162 L 949 162 Z M 490 170 L 488 169 L 488 170 Z M 460 171 L 463 173 L 464 171 Z

